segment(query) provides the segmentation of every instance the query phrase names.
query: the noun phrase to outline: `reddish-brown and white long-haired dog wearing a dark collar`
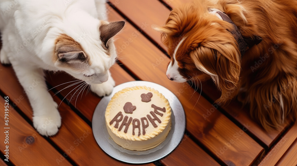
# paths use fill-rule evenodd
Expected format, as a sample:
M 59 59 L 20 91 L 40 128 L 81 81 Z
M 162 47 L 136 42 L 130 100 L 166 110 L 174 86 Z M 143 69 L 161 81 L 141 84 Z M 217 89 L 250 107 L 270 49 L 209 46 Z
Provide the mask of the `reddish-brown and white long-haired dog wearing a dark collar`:
M 296 0 L 195 1 L 153 28 L 168 47 L 170 80 L 213 79 L 217 102 L 238 96 L 266 130 L 296 122 Z

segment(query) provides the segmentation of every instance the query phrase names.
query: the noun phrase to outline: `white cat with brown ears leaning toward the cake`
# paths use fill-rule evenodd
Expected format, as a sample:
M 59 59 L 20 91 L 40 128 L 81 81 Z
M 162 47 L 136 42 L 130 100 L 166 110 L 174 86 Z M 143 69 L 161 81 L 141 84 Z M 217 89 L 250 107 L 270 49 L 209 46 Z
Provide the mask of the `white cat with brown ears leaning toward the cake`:
M 65 71 L 99 96 L 112 92 L 113 36 L 125 22 L 106 21 L 105 0 L 1 0 L 0 9 L 0 60 L 12 64 L 40 134 L 54 135 L 61 126 L 43 69 Z

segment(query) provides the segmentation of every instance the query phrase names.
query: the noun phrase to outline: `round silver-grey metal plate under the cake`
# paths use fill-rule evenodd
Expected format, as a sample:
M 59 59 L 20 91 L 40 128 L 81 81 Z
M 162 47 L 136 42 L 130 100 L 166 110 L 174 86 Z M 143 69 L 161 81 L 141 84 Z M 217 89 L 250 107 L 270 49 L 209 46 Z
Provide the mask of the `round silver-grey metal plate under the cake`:
M 171 109 L 172 109 L 172 122 L 171 122 L 171 130 L 168 133 L 168 137 L 164 142 L 162 142 L 159 146 L 153 149 L 149 149 L 147 151 L 130 151 L 127 149 L 121 148 L 117 145 L 112 138 L 109 136 L 106 125 L 105 125 L 105 109 L 111 100 L 111 97 L 118 91 L 133 86 L 147 86 L 152 87 L 155 90 L 158 90 L 162 93 L 165 98 L 168 99 Z M 98 103 L 93 119 L 92 119 L 92 128 L 94 137 L 101 147 L 103 151 L 105 151 L 111 157 L 118 159 L 123 162 L 128 163 L 147 163 L 153 162 L 158 159 L 161 159 L 168 155 L 171 151 L 173 151 L 181 141 L 184 136 L 184 131 L 186 129 L 186 116 L 184 113 L 184 108 L 181 105 L 181 102 L 178 98 L 167 88 L 147 81 L 131 81 L 120 84 L 114 87 L 113 92 L 103 97 Z M 121 149 L 121 150 L 119 150 Z

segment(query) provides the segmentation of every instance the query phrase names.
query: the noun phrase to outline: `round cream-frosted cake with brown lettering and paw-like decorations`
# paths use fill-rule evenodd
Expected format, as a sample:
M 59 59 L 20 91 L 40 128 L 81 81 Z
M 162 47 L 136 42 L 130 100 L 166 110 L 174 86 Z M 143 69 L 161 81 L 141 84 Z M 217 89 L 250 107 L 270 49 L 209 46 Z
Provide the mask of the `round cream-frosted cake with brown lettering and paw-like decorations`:
M 171 129 L 171 108 L 157 90 L 125 88 L 113 95 L 105 111 L 108 133 L 119 146 L 135 151 L 162 143 Z

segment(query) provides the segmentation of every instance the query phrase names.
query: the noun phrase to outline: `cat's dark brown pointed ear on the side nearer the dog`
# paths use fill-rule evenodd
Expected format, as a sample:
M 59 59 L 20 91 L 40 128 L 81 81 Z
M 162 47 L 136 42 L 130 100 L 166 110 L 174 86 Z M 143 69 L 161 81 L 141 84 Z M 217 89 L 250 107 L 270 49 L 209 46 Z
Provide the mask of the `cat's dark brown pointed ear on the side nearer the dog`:
M 117 21 L 108 24 L 101 24 L 99 27 L 100 39 L 107 47 L 108 41 L 124 27 L 125 21 Z

